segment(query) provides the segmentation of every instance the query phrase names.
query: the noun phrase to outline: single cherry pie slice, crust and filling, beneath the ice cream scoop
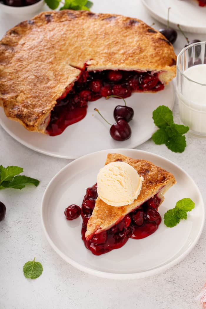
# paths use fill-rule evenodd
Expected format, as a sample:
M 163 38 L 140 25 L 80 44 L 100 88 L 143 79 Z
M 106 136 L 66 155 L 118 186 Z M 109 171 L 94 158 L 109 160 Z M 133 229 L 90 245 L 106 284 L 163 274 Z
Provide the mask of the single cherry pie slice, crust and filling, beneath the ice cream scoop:
M 97 196 L 97 184 L 87 188 L 82 202 L 82 239 L 93 254 L 100 255 L 122 247 L 128 238 L 153 234 L 161 222 L 158 207 L 164 193 L 176 183 L 172 174 L 145 160 L 108 154 L 105 164 L 123 161 L 144 177 L 142 188 L 132 204 L 113 207 Z

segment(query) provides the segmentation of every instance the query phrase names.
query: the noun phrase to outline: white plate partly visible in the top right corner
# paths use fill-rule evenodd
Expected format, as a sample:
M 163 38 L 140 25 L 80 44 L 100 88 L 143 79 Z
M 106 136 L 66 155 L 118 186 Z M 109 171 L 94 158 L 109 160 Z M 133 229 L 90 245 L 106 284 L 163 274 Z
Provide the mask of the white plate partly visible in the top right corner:
M 170 9 L 170 26 L 183 31 L 206 33 L 206 6 L 200 7 L 195 0 L 142 0 L 149 14 L 161 23 L 167 24 L 167 10 Z

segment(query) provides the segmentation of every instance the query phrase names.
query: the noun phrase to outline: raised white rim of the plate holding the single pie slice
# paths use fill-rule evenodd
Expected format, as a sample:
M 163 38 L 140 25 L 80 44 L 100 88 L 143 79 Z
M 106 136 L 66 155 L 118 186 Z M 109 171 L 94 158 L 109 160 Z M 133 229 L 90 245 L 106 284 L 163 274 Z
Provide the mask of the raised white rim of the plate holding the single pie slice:
M 183 172 L 184 174 L 186 174 L 187 177 L 189 177 L 189 179 L 192 181 L 195 189 L 197 190 L 198 192 L 198 196 L 200 198 L 200 204 L 202 205 L 202 208 L 203 208 L 203 215 L 201 216 L 201 226 L 200 226 L 200 230 L 198 232 L 198 235 L 196 236 L 195 240 L 193 241 L 193 243 L 190 245 L 189 248 L 187 248 L 187 250 L 185 252 L 183 252 L 183 254 L 181 254 L 179 257 L 177 257 L 176 259 L 170 261 L 169 263 L 167 263 L 166 265 L 162 265 L 160 267 L 157 267 L 155 269 L 151 269 L 151 270 L 146 270 L 146 271 L 143 271 L 143 272 L 138 272 L 138 273 L 110 273 L 110 272 L 104 272 L 104 271 L 99 271 L 99 270 L 94 270 L 92 268 L 89 268 L 89 267 L 86 267 L 86 266 L 83 266 L 81 264 L 79 264 L 78 262 L 72 260 L 71 258 L 69 258 L 68 256 L 66 256 L 64 253 L 61 252 L 61 250 L 59 250 L 56 245 L 53 243 L 52 239 L 49 237 L 48 235 L 48 232 L 46 230 L 46 227 L 45 227 L 45 224 L 44 224 L 44 214 L 43 214 L 43 211 L 44 211 L 44 203 L 45 203 L 45 199 L 46 199 L 46 196 L 47 196 L 47 192 L 50 188 L 50 185 L 53 183 L 53 181 L 55 181 L 55 179 L 63 172 L 65 171 L 68 166 L 71 166 L 73 164 L 76 164 L 76 161 L 80 161 L 80 160 L 84 160 L 86 159 L 86 157 L 89 157 L 90 155 L 94 155 L 94 154 L 97 154 L 98 153 L 102 153 L 102 152 L 105 152 L 105 153 L 114 153 L 114 152 L 119 152 L 121 153 L 121 151 L 132 151 L 134 153 L 141 153 L 141 154 L 149 154 L 149 155 L 153 155 L 154 157 L 157 157 L 158 159 L 163 159 L 164 161 L 174 165 L 175 167 L 177 167 L 178 169 L 181 170 L 181 172 Z M 74 266 L 75 268 L 85 272 L 85 273 L 88 273 L 88 274 L 91 274 L 91 275 L 95 275 L 95 276 L 98 276 L 98 277 L 102 277 L 102 278 L 107 278 L 107 279 L 119 279 L 119 280 L 128 280 L 128 279 L 140 279 L 140 278 L 144 278 L 144 277 L 149 277 L 149 276 L 153 276 L 153 275 L 156 275 L 156 274 L 159 274 L 159 273 L 162 273 L 164 272 L 165 270 L 169 269 L 170 267 L 176 265 L 177 263 L 179 263 L 180 261 L 182 261 L 184 259 L 185 256 L 187 256 L 187 254 L 189 254 L 191 252 L 191 250 L 195 247 L 196 243 L 198 242 L 198 240 L 200 239 L 200 235 L 202 234 L 202 231 L 203 231 L 203 228 L 204 228 L 204 222 L 205 222 L 205 209 L 204 209 L 204 201 L 203 201 L 203 197 L 202 197 L 202 194 L 200 192 L 200 189 L 198 188 L 197 184 L 195 183 L 195 181 L 192 179 L 192 177 L 186 172 L 183 170 L 182 167 L 180 167 L 179 165 L 177 165 L 176 163 L 172 162 L 171 160 L 169 159 L 166 159 L 160 155 L 157 155 L 157 154 L 154 154 L 152 152 L 149 152 L 149 151 L 145 151 L 145 150 L 137 150 L 137 149 L 130 149 L 130 148 L 116 148 L 116 149 L 106 149 L 106 150 L 99 150 L 99 151 L 95 151 L 95 152 L 92 152 L 90 154 L 87 154 L 87 155 L 84 155 L 82 157 L 79 157 L 78 159 L 68 163 L 65 165 L 65 167 L 61 168 L 61 170 L 59 172 L 57 172 L 53 178 L 49 181 L 45 191 L 44 191 L 44 194 L 43 194 L 43 197 L 42 197 L 42 201 L 41 201 L 41 223 L 42 223 L 42 227 L 43 227 L 43 231 L 44 231 L 44 234 L 49 242 L 49 244 L 51 245 L 51 247 L 53 248 L 53 250 L 63 259 L 65 260 L 66 262 L 68 262 L 70 265 Z

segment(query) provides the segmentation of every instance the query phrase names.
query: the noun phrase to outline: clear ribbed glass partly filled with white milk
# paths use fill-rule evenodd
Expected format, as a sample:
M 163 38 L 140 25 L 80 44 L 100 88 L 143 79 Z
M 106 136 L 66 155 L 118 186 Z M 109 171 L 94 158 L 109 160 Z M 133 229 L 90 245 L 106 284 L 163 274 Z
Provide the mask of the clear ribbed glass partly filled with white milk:
M 206 42 L 185 47 L 177 57 L 177 97 L 181 123 L 206 137 Z

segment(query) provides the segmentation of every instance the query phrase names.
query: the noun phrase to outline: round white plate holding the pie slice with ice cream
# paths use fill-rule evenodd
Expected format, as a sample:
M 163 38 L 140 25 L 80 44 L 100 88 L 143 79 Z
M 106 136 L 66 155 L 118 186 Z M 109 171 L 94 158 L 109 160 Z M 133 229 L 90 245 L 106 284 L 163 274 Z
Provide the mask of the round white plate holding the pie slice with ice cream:
M 166 227 L 162 221 L 149 237 L 128 239 L 122 248 L 95 256 L 81 239 L 82 218 L 67 221 L 64 210 L 70 204 L 81 205 L 86 188 L 96 183 L 99 169 L 104 166 L 109 152 L 149 160 L 173 173 L 177 184 L 165 194 L 165 201 L 159 208 L 162 218 L 184 197 L 190 197 L 195 208 L 188 213 L 187 220 L 181 220 L 173 228 Z M 83 156 L 57 173 L 44 192 L 41 215 L 49 243 L 65 261 L 99 277 L 134 279 L 161 273 L 192 250 L 203 229 L 204 204 L 195 182 L 171 161 L 141 150 L 110 149 Z

